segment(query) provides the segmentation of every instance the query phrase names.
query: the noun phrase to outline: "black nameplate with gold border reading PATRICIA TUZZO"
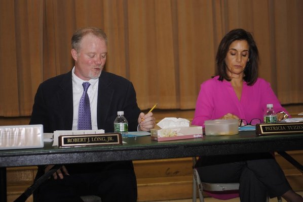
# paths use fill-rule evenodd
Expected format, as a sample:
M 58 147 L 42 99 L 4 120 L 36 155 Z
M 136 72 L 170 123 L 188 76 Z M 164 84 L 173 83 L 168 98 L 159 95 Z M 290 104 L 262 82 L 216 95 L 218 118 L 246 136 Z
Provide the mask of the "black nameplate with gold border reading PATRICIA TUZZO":
M 264 123 L 256 125 L 257 135 L 298 134 L 303 133 L 303 122 L 299 123 Z

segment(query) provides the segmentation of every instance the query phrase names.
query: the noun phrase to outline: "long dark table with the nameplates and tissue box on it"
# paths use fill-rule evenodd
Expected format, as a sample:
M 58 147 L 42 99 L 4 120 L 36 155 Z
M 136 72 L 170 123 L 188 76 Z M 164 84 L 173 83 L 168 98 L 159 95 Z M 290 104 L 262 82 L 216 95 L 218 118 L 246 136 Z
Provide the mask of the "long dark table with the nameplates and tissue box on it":
M 59 148 L 45 142 L 44 148 L 0 151 L 0 201 L 6 201 L 6 167 L 90 163 L 125 160 L 168 159 L 195 156 L 248 154 L 303 149 L 303 134 L 257 136 L 240 131 L 232 136 L 157 142 L 150 136 L 123 139 L 123 145 Z M 283 153 L 282 153 L 283 154 Z M 285 154 L 285 153 L 284 153 Z

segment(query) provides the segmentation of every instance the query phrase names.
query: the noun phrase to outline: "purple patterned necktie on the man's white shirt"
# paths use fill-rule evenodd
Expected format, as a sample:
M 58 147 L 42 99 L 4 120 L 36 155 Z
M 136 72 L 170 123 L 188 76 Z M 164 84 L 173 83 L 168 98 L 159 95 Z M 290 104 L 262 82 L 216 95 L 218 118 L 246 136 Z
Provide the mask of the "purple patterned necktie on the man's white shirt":
M 89 82 L 82 83 L 83 85 L 83 94 L 79 103 L 79 112 L 78 112 L 78 130 L 91 130 L 92 121 L 91 121 L 91 107 L 90 101 L 87 94 L 87 89 L 91 85 Z

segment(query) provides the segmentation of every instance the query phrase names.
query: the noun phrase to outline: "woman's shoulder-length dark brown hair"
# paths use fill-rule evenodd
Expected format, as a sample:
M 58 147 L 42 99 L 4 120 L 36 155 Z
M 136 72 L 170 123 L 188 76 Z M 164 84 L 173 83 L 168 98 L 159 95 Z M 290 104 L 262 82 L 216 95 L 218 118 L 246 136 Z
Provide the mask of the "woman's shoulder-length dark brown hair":
M 252 35 L 244 29 L 231 30 L 222 38 L 216 55 L 217 74 L 219 75 L 218 80 L 223 81 L 223 79 L 225 79 L 231 81 L 231 78 L 228 76 L 225 58 L 231 43 L 236 40 L 246 40 L 249 45 L 249 61 L 246 63 L 243 79 L 247 82 L 247 85 L 253 85 L 258 77 L 259 53 Z

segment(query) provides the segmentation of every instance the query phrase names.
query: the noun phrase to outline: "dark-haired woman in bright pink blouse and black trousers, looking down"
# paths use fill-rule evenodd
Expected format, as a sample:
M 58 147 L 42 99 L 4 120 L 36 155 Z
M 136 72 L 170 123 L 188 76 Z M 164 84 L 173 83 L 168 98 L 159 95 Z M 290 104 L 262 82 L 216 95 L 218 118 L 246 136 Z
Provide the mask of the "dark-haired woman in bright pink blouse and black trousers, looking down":
M 226 34 L 216 56 L 218 75 L 201 84 L 192 124 L 204 127 L 211 119 L 261 121 L 267 104 L 273 104 L 278 121 L 288 118 L 270 84 L 257 77 L 258 59 L 249 32 L 235 29 Z M 196 167 L 202 181 L 239 182 L 241 201 L 266 201 L 267 196 L 303 201 L 269 153 L 203 157 Z

